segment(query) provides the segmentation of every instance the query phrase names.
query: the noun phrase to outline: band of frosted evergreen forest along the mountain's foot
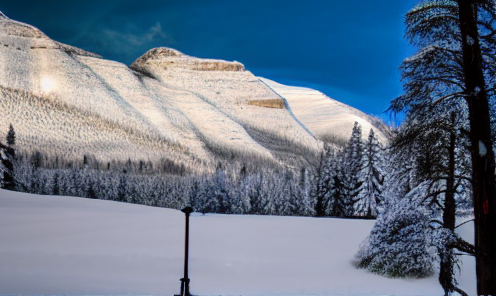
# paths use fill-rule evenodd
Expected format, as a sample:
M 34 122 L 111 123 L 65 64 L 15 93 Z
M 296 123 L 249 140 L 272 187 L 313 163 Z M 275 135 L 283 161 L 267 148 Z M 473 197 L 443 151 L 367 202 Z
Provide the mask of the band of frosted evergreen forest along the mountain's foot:
M 9 135 L 15 133 L 13 127 Z M 8 138 L 12 136 L 8 136 Z M 317 167 L 299 170 L 219 163 L 212 174 L 196 175 L 167 161 L 108 162 L 84 155 L 82 162 L 48 158 L 42 152 L 12 152 L 4 188 L 23 192 L 80 196 L 203 213 L 374 218 L 383 200 L 384 149 L 371 130 L 362 140 L 358 123 L 344 149 L 331 145 Z M 157 171 L 165 167 L 165 172 Z

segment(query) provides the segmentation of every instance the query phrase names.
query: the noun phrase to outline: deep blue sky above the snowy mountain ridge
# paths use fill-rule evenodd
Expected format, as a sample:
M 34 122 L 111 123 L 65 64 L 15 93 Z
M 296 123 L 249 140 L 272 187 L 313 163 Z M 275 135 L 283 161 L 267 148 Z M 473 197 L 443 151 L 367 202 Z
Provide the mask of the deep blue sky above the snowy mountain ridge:
M 378 115 L 401 94 L 417 0 L 0 0 L 8 17 L 130 64 L 148 49 L 236 60 L 257 76 L 318 89 Z

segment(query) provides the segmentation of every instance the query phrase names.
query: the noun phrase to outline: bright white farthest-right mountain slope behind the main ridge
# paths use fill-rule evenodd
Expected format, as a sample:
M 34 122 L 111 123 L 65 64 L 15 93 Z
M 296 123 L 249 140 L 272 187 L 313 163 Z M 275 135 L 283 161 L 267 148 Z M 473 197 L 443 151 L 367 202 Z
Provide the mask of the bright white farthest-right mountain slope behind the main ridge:
M 296 118 L 319 139 L 337 138 L 347 141 L 355 121 L 362 126 L 364 139 L 368 137 L 370 129 L 374 129 L 382 143 L 389 139 L 388 128 L 378 119 L 333 100 L 319 91 L 286 86 L 262 77 L 259 79 L 285 98 Z

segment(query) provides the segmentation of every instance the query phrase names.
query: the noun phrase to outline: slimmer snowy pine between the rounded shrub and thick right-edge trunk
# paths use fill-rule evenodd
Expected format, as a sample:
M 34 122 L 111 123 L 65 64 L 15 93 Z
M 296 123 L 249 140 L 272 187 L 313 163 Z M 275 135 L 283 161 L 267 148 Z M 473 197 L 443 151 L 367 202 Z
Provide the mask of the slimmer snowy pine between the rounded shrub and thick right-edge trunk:
M 455 234 L 457 205 L 464 204 L 470 196 L 470 163 L 467 163 L 469 152 L 466 149 L 468 139 L 464 135 L 468 120 L 463 105 L 458 108 L 438 105 L 437 117 L 417 117 L 412 121 L 407 118 L 393 141 L 393 149 L 398 154 L 415 147 L 417 156 L 417 175 L 427 190 L 418 196 L 421 204 L 431 211 L 431 221 L 442 228 L 436 243 L 440 257 L 439 281 L 446 293 L 457 291 L 465 294 L 457 287 L 456 266 L 458 259 L 454 256 L 454 248 L 475 254 L 473 246 Z M 466 192 L 466 191 L 469 192 Z M 450 233 L 455 240 L 443 237 Z

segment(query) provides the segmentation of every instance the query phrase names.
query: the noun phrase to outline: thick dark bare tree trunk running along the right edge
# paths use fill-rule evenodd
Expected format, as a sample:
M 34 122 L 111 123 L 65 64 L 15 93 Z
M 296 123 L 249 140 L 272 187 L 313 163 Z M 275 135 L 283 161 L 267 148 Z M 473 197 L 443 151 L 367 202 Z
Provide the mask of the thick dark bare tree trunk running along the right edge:
M 463 72 L 470 117 L 477 293 L 496 295 L 496 190 L 489 104 L 474 0 L 458 0 Z

